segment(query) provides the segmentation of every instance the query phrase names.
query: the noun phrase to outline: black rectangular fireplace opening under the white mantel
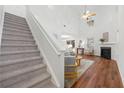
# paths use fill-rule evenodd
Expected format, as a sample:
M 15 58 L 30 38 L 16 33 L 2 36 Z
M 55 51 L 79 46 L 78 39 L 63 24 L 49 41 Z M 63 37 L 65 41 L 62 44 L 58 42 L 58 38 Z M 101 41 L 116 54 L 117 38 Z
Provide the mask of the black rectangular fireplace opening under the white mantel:
M 101 47 L 101 57 L 111 59 L 111 47 Z

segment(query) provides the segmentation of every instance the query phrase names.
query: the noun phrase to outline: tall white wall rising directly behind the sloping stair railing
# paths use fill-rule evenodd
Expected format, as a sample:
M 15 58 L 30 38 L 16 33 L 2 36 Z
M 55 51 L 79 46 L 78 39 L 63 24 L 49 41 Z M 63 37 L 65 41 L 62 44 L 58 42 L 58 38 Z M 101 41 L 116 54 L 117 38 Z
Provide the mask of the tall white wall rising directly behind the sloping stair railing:
M 41 25 L 50 37 L 63 46 L 61 35 L 71 35 L 71 39 L 77 39 L 79 33 L 78 17 L 72 9 L 75 6 L 30 6 L 33 14 L 37 16 Z M 64 27 L 66 25 L 66 27 Z

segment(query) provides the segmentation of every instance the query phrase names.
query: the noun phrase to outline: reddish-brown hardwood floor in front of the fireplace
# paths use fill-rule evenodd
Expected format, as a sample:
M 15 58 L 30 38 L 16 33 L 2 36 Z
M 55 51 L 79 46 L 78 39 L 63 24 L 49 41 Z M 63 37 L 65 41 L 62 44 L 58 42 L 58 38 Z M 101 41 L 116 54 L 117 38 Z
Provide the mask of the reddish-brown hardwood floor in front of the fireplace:
M 96 56 L 83 56 L 95 63 L 79 78 L 72 88 L 123 88 L 117 63 Z

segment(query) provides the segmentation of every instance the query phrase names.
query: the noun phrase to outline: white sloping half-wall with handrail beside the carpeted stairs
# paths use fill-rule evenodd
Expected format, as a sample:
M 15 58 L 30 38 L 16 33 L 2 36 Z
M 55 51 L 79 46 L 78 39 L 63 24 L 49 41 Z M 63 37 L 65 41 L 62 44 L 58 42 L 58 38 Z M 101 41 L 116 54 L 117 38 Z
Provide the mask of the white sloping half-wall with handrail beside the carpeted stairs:
M 64 87 L 64 49 L 60 49 L 49 37 L 29 7 L 26 7 L 26 14 L 27 22 L 52 74 L 53 81 L 55 81 L 58 87 Z

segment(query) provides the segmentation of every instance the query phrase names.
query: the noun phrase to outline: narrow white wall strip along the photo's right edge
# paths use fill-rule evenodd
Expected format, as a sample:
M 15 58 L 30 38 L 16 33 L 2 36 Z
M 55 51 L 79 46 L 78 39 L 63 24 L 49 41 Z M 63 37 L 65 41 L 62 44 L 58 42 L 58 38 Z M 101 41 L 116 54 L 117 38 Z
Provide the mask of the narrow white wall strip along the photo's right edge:
M 119 6 L 118 66 L 124 83 L 124 6 Z

